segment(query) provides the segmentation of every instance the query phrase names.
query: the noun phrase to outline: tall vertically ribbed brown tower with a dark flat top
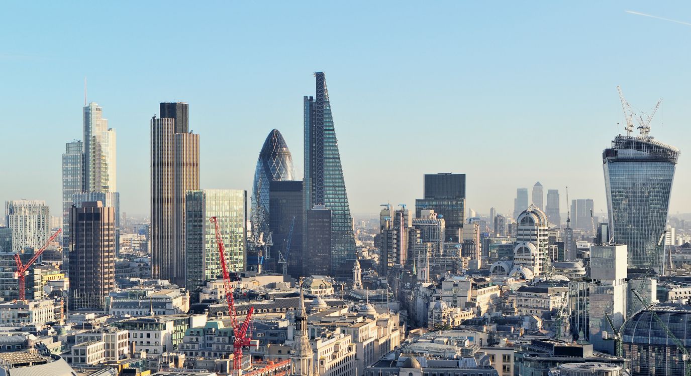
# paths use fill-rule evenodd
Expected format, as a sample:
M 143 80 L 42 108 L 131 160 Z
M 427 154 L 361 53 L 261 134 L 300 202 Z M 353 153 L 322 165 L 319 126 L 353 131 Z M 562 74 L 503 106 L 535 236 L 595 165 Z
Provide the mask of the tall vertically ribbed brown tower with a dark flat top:
M 187 190 L 199 189 L 199 135 L 189 132 L 188 104 L 163 102 L 151 119 L 151 276 L 186 283 Z

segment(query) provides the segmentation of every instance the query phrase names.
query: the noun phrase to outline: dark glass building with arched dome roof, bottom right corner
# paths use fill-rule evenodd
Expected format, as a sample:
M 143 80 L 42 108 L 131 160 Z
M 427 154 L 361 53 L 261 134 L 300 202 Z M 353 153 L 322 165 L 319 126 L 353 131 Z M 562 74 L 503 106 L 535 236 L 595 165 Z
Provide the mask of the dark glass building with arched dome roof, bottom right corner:
M 652 312 L 686 348 L 691 342 L 691 306 L 661 303 L 652 305 L 648 310 L 639 310 L 626 320 L 620 330 L 623 355 L 631 359 L 631 375 L 685 375 L 688 360 L 683 360 L 685 355 L 672 342 Z

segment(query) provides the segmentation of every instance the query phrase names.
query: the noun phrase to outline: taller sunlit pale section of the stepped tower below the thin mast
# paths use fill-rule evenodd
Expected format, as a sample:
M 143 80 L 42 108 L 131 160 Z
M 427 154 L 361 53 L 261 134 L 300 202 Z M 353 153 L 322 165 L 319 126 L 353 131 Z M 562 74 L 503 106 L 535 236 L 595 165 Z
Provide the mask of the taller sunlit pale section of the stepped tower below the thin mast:
M 103 108 L 84 106 L 84 192 L 115 192 L 115 130 L 108 128 Z

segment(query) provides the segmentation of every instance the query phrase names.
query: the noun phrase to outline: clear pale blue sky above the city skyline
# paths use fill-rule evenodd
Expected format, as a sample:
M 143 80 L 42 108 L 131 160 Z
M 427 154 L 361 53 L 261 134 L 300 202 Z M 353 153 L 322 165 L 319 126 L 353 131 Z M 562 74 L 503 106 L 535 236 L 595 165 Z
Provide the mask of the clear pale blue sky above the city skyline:
M 0 201 L 59 215 L 61 154 L 88 100 L 117 130 L 122 211 L 149 210 L 149 119 L 187 101 L 202 188 L 251 190 L 283 133 L 302 176 L 302 97 L 324 71 L 354 213 L 467 174 L 468 206 L 513 210 L 535 181 L 606 210 L 601 152 L 632 106 L 682 150 L 671 212 L 691 212 L 688 1 L 16 1 L 0 14 Z M 663 127 L 661 127 L 663 121 Z

